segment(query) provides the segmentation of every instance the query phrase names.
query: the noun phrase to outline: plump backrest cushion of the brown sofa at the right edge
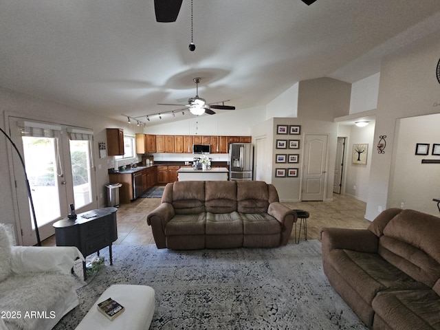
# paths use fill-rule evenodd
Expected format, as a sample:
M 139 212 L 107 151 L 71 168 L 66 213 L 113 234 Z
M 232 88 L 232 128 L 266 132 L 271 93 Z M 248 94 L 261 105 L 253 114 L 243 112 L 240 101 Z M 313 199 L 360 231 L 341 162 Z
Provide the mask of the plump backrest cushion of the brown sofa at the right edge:
M 402 210 L 386 224 L 378 252 L 412 278 L 433 287 L 440 278 L 439 232 L 438 217 Z

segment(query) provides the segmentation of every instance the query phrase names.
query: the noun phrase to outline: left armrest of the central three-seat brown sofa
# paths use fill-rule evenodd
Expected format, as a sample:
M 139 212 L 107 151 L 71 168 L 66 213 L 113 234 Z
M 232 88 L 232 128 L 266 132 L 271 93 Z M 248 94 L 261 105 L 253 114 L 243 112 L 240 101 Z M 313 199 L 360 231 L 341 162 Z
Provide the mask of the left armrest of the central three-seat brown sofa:
M 173 205 L 162 203 L 146 216 L 146 223 L 151 225 L 154 241 L 158 249 L 166 248 L 165 227 L 166 223 L 173 219 L 174 215 Z

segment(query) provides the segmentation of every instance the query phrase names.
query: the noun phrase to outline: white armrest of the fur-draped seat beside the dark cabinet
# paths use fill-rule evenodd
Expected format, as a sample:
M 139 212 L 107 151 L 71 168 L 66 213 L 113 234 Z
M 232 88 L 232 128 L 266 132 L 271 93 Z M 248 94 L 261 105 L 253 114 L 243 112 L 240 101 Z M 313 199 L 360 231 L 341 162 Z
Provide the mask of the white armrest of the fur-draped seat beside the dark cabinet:
M 58 272 L 70 274 L 76 259 L 85 261 L 74 246 L 11 246 L 11 269 L 15 274 Z

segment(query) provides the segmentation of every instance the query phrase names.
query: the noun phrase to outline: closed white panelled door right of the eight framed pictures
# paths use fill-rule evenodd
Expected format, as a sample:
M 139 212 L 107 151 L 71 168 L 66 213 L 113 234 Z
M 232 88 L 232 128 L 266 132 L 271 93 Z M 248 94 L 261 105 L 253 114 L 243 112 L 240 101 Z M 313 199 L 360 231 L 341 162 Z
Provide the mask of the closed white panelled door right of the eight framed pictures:
M 328 135 L 306 134 L 302 179 L 303 201 L 323 201 L 327 177 Z

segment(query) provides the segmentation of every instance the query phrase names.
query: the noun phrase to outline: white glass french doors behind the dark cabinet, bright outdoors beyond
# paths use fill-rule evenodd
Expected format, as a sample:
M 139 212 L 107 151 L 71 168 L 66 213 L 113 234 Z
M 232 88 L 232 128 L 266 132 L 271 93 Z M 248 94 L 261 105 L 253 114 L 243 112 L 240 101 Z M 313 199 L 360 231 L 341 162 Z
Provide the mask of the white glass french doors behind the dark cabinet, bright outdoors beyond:
M 77 212 L 96 208 L 93 133 L 59 124 L 9 119 L 11 138 L 25 162 L 35 219 L 43 240 L 54 234 L 52 224 L 67 216 L 69 204 L 74 204 Z M 34 245 L 35 226 L 23 167 L 14 153 L 12 162 L 23 245 Z

